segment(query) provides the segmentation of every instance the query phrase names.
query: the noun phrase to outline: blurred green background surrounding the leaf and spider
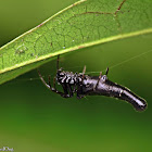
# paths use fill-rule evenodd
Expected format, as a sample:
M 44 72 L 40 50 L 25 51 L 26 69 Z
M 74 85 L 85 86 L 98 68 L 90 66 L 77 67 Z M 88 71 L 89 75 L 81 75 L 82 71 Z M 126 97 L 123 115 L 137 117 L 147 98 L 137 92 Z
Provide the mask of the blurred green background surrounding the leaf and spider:
M 0 3 L 0 46 L 40 24 L 75 0 L 7 0 Z M 0 148 L 14 152 L 151 152 L 152 34 L 93 46 L 61 55 L 66 71 L 99 75 L 130 88 L 148 101 L 145 112 L 106 97 L 63 99 L 49 91 L 37 71 L 0 86 Z M 55 58 L 40 67 L 55 75 Z M 60 87 L 59 87 L 60 88 Z M 60 88 L 61 89 L 61 88 Z

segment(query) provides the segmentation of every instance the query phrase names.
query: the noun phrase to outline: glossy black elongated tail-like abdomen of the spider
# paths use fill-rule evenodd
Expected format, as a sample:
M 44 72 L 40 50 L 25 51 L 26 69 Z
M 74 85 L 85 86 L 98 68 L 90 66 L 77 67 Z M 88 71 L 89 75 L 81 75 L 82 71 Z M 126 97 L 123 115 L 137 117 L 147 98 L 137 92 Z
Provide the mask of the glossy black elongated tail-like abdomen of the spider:
M 84 79 L 83 94 L 100 94 L 125 100 L 137 111 L 143 111 L 147 107 L 144 99 L 140 98 L 128 88 L 109 80 L 105 75 L 102 75 L 100 79 L 97 76 L 87 76 L 86 79 Z

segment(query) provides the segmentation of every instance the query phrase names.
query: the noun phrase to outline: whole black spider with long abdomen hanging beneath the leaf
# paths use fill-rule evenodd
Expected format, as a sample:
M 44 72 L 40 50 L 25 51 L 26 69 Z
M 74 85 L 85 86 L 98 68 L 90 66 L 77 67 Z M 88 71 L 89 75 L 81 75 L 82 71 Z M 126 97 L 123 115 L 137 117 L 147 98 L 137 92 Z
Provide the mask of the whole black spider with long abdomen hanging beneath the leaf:
M 49 88 L 52 92 L 60 94 L 63 98 L 72 98 L 75 93 L 78 99 L 84 98 L 85 96 L 106 96 L 113 97 L 121 100 L 125 100 L 128 103 L 132 104 L 132 106 L 137 111 L 143 111 L 147 107 L 147 102 L 144 99 L 138 97 L 134 92 L 131 92 L 128 88 L 117 85 L 109 80 L 107 73 L 109 67 L 104 75 L 102 72 L 99 76 L 89 76 L 85 75 L 86 66 L 84 66 L 83 73 L 73 73 L 65 72 L 59 68 L 59 59 L 56 60 L 56 76 L 53 80 L 53 87 L 51 86 L 51 77 L 49 76 L 49 83 L 47 84 L 42 78 L 40 72 L 38 71 L 39 77 L 41 81 L 45 84 L 47 88 Z M 59 84 L 63 88 L 63 92 L 59 91 L 55 87 L 55 84 Z

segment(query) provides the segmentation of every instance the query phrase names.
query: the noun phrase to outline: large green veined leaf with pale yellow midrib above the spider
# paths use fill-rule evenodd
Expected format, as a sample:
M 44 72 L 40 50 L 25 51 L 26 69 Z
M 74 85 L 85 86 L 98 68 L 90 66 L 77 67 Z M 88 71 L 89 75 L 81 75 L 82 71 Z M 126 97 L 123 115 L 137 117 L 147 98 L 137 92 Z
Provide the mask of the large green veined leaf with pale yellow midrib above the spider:
M 58 54 L 152 33 L 151 8 L 151 0 L 81 0 L 69 5 L 0 48 L 0 84 Z

